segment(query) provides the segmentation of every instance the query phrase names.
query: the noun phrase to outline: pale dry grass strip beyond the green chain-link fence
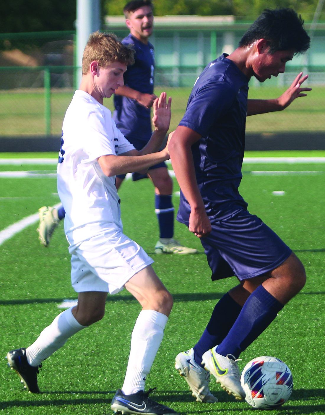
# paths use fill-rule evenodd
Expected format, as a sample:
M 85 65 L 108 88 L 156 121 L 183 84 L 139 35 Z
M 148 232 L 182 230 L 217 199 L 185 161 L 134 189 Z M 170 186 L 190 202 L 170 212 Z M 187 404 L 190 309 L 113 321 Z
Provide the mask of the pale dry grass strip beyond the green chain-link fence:
M 287 87 L 251 87 L 249 98 L 276 98 Z M 191 88 L 166 88 L 172 97 L 171 130 L 175 129 L 183 117 Z M 157 88 L 155 93 L 159 94 Z M 325 87 L 313 86 L 307 98 L 300 98 L 284 112 L 261 114 L 247 117 L 247 132 L 288 132 L 288 131 L 324 131 L 325 130 Z M 73 90 L 56 88 L 51 90 L 51 134 L 61 135 L 62 121 Z M 113 110 L 112 99 L 105 99 L 104 105 Z M 30 89 L 22 92 L 0 92 L 1 136 L 44 135 L 45 98 L 44 90 L 36 92 Z

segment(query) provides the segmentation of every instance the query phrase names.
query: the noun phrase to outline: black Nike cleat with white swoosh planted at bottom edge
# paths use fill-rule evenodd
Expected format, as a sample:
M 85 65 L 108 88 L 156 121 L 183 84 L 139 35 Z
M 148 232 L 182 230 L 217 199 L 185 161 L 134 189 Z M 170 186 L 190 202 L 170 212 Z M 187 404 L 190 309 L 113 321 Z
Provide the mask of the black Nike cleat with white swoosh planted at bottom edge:
M 175 415 L 173 409 L 168 406 L 161 405 L 161 403 L 155 402 L 149 398 L 149 393 L 154 389 L 149 389 L 148 392 L 139 391 L 132 393 L 131 395 L 124 395 L 119 389 L 110 405 L 111 409 L 115 413 L 123 414 L 147 414 L 147 415 Z

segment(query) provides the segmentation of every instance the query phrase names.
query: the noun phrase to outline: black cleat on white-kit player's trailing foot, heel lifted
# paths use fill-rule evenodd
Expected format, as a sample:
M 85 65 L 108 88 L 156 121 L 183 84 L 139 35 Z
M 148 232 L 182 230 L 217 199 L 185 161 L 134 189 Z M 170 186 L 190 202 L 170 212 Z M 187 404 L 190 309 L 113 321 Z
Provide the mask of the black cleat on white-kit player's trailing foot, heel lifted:
M 8 352 L 7 359 L 8 366 L 11 369 L 15 369 L 27 391 L 39 393 L 37 374 L 39 373 L 38 368 L 42 367 L 42 363 L 38 367 L 31 366 L 27 361 L 26 349 L 24 347 Z

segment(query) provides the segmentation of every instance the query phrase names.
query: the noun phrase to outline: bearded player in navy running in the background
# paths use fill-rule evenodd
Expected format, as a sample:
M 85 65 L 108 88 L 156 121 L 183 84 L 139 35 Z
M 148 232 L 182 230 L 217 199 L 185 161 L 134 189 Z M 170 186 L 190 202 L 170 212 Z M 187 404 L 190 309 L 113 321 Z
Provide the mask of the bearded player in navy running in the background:
M 115 92 L 113 120 L 127 140 L 137 150 L 141 150 L 151 137 L 150 107 L 154 95 L 154 47 L 148 38 L 153 28 L 153 5 L 151 0 L 132 0 L 125 5 L 123 12 L 130 34 L 122 43 L 134 47 L 134 65 L 124 74 L 124 85 Z M 148 170 L 155 187 L 155 212 L 159 223 L 159 241 L 156 254 L 195 254 L 197 249 L 184 247 L 173 239 L 174 207 L 172 203 L 173 181 L 164 162 Z M 133 173 L 133 179 L 147 177 Z M 119 189 L 125 175 L 116 177 Z

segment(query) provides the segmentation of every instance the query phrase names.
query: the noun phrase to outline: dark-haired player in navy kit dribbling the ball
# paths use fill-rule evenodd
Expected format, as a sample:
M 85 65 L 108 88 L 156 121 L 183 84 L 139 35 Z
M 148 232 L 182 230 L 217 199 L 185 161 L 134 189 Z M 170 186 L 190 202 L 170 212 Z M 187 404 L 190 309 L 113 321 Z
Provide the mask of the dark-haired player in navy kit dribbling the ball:
M 301 261 L 239 194 L 246 115 L 282 110 L 310 88 L 300 73 L 281 99 L 252 101 L 248 82 L 285 71 L 286 62 L 309 47 L 303 21 L 292 9 L 264 10 L 239 47 L 201 73 L 169 151 L 181 187 L 177 219 L 201 238 L 212 280 L 236 276 L 239 285 L 215 306 L 194 348 L 176 356 L 197 400 L 213 402 L 209 373 L 236 398 L 245 394 L 237 359 L 305 284 Z M 217 346 L 216 346 L 217 345 Z M 205 367 L 205 369 L 203 369 Z

